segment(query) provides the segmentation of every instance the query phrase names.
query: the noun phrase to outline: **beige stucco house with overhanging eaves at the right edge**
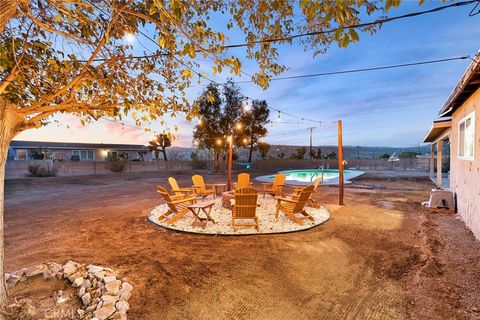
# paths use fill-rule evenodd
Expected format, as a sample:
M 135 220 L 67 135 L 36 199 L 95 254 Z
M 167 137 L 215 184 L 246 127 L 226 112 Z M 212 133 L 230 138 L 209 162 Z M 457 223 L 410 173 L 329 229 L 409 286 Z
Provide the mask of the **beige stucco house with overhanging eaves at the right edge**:
M 466 225 L 480 239 L 480 51 L 440 109 L 440 120 L 425 137 L 432 143 L 431 174 L 437 150 L 435 182 L 443 185 L 444 142 L 450 145 L 450 190 Z

